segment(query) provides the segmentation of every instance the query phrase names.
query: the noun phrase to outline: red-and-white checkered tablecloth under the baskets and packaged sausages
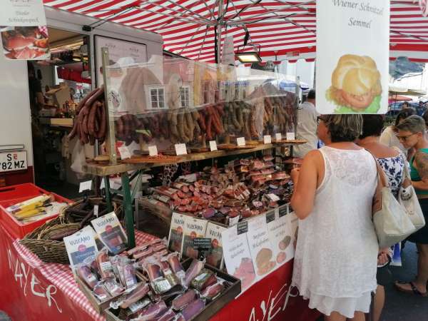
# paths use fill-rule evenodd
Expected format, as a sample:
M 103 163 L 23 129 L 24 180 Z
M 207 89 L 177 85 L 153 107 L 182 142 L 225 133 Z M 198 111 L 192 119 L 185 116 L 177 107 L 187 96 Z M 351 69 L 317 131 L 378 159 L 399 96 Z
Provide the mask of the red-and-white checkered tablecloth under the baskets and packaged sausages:
M 136 231 L 137 245 L 141 245 L 154 238 L 153 235 Z M 44 263 L 24 245 L 19 244 L 19 240 L 15 240 L 13 245 L 16 252 L 21 255 L 21 258 L 33 269 L 39 270 L 41 275 L 46 277 L 46 280 L 49 280 L 58 290 L 61 290 L 71 302 L 73 302 L 76 308 L 80 308 L 83 313 L 87 313 L 93 320 L 106 320 L 105 317 L 99 315 L 98 312 L 93 309 L 91 303 L 86 299 L 86 296 L 79 290 L 69 265 Z

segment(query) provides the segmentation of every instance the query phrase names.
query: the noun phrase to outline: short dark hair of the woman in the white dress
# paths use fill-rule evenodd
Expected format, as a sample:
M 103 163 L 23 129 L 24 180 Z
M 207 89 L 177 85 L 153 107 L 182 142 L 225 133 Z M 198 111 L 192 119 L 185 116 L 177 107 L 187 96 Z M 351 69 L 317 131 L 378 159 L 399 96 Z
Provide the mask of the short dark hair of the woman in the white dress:
M 323 116 L 330 131 L 332 143 L 355 141 L 362 133 L 362 116 L 360 114 Z

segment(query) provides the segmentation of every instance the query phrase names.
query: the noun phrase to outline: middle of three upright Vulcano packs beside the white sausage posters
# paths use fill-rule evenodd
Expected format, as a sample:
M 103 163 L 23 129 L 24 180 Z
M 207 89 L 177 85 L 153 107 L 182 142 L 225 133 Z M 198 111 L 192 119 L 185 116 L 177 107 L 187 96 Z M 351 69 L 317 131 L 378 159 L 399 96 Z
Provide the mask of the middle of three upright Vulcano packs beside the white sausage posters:
M 198 258 L 198 250 L 193 245 L 194 238 L 204 238 L 208 220 L 198 220 L 187 216 L 184 224 L 183 248 L 181 254 L 187 258 Z

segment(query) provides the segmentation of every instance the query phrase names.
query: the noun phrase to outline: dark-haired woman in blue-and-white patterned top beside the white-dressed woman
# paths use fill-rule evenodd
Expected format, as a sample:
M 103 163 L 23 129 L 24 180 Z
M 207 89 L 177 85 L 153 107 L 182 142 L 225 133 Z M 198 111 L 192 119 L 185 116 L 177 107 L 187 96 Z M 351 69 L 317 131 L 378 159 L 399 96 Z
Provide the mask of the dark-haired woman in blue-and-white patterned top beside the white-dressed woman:
M 389 188 L 395 198 L 398 198 L 399 189 L 402 185 L 404 166 L 407 165 L 405 156 L 397 149 L 390 148 L 379 142 L 380 133 L 383 128 L 383 117 L 381 115 L 363 115 L 362 134 L 357 141 L 358 146 L 370 151 L 377 158 L 377 162 L 387 176 Z M 379 250 L 377 265 L 377 290 L 374 295 L 373 320 L 378 321 L 385 302 L 384 286 L 389 282 L 391 273 L 388 267 L 382 267 L 389 262 L 391 256 L 389 248 Z

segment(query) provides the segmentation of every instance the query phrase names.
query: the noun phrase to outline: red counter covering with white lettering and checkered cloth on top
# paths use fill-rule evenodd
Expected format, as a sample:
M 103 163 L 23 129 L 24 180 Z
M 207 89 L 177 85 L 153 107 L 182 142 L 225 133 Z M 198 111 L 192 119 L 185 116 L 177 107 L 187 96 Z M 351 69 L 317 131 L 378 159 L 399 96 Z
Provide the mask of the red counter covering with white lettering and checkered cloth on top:
M 136 232 L 136 242 L 154 237 Z M 12 320 L 106 320 L 79 290 L 68 265 L 43 263 L 0 227 L 0 282 L 4 310 Z M 292 261 L 250 287 L 211 320 L 302 320 L 319 316 L 289 293 Z

